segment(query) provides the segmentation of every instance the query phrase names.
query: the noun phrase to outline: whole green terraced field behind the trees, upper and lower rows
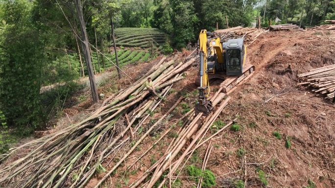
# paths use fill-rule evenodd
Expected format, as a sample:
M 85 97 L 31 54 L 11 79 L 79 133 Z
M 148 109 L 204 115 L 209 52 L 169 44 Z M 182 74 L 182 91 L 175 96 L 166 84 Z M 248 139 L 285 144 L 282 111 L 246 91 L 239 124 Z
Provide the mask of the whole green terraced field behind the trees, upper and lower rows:
M 116 44 L 118 49 L 118 56 L 119 56 L 119 64 L 120 67 L 136 63 L 136 62 L 145 62 L 150 61 L 153 57 L 151 57 L 152 52 L 152 44 L 154 51 L 160 50 L 163 48 L 163 44 L 165 42 L 165 33 L 156 28 L 118 28 L 115 31 L 116 34 Z M 115 55 L 114 52 L 112 54 L 105 53 L 104 54 L 108 59 L 115 62 Z M 68 53 L 68 56 L 62 57 L 64 61 L 69 61 L 72 69 L 75 71 L 80 72 L 80 61 L 79 56 L 75 53 Z M 85 75 L 87 75 L 87 68 L 84 62 L 84 57 L 82 56 L 83 66 Z M 100 68 L 103 69 L 101 55 L 99 56 Z M 104 69 L 108 69 L 113 67 L 114 65 L 108 61 L 105 57 L 104 58 Z M 95 51 L 92 51 L 92 65 L 94 65 L 96 71 L 99 70 L 97 64 L 97 54 Z

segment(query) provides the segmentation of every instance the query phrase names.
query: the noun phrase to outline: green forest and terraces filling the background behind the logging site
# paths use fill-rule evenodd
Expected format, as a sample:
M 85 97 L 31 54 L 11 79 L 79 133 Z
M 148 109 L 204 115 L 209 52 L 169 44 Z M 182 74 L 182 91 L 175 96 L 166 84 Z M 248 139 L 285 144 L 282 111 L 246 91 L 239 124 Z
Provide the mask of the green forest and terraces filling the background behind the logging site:
M 83 89 L 81 77 L 89 75 L 96 102 L 94 75 L 115 67 L 109 60 L 121 66 L 196 46 L 199 31 L 216 23 L 252 27 L 261 17 L 263 27 L 306 28 L 335 20 L 334 10 L 335 0 L 0 0 L 1 139 L 8 129 L 26 136 L 46 127 Z M 140 31 L 152 38 L 127 41 Z

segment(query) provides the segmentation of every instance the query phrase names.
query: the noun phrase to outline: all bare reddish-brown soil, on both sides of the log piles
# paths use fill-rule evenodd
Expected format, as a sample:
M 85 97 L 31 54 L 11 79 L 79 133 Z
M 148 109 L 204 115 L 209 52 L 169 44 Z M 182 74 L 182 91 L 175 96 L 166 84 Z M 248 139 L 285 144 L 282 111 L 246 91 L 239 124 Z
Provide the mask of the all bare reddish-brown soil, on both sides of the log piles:
M 306 88 L 298 88 L 297 74 L 326 63 L 335 63 L 335 33 L 314 32 L 268 32 L 248 47 L 247 57 L 256 66 L 256 72 L 250 80 L 230 94 L 232 99 L 217 119 L 227 123 L 237 118 L 238 132 L 229 128 L 212 140 L 214 149 L 207 168 L 216 176 L 215 187 L 234 187 L 234 182 L 246 182 L 246 188 L 317 188 L 335 187 L 335 105 L 322 98 L 309 94 Z M 311 40 L 305 38 L 312 38 Z M 187 54 L 184 54 L 187 56 Z M 136 78 L 148 70 L 152 64 L 127 66 L 125 71 Z M 287 69 L 290 64 L 291 69 Z M 151 119 L 141 132 L 135 134 L 136 140 L 145 132 L 155 119 L 160 118 L 180 96 L 186 99 L 178 107 L 173 117 L 161 124 L 151 138 L 144 141 L 136 151 L 106 182 L 106 187 L 128 187 L 151 164 L 155 162 L 175 137 L 173 132 L 160 141 L 148 155 L 131 169 L 126 166 L 142 155 L 160 134 L 181 116 L 182 112 L 192 108 L 197 97 L 194 85 L 198 68 L 192 67 L 186 79 L 176 83 L 167 100 L 152 113 Z M 118 83 L 107 84 L 99 93 L 108 96 L 113 90 L 127 87 L 133 80 L 124 78 Z M 212 95 L 219 81 L 212 83 Z M 92 102 L 86 102 L 64 110 L 69 115 L 63 118 L 63 124 L 70 124 L 94 111 Z M 176 126 L 176 131 L 179 127 Z M 212 128 L 215 133 L 217 127 Z M 276 139 L 273 132 L 281 134 Z M 209 134 L 207 135 L 209 136 Z M 207 137 L 206 136 L 206 137 Z M 290 141 L 290 148 L 286 147 Z M 110 159 L 111 166 L 128 151 L 131 142 L 124 144 Z M 189 164 L 202 165 L 207 145 L 200 147 Z M 106 165 L 106 164 L 104 164 Z M 245 171 L 246 169 L 246 171 Z M 108 167 L 106 168 L 108 171 Z M 244 174 L 246 173 L 246 176 Z M 94 177 L 86 188 L 92 188 L 104 174 Z M 180 170 L 174 188 L 196 186 L 185 169 Z

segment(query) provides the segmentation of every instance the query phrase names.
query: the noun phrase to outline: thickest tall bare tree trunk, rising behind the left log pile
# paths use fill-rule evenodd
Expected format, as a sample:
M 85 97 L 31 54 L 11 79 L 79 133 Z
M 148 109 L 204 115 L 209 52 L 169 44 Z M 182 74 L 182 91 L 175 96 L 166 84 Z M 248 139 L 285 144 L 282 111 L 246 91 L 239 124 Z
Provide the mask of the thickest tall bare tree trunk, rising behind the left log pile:
M 83 5 L 81 4 L 80 0 L 74 1 L 75 8 L 77 10 L 77 17 L 80 25 L 80 33 L 81 33 L 81 47 L 83 48 L 84 58 L 87 66 L 87 71 L 89 74 L 89 80 L 91 85 L 91 93 L 93 102 L 97 103 L 99 100 L 97 89 L 96 89 L 96 78 L 93 73 L 92 63 L 91 63 L 91 54 L 90 54 L 90 47 L 88 42 L 88 37 L 86 33 L 86 25 L 84 22 L 84 16 L 83 16 Z

